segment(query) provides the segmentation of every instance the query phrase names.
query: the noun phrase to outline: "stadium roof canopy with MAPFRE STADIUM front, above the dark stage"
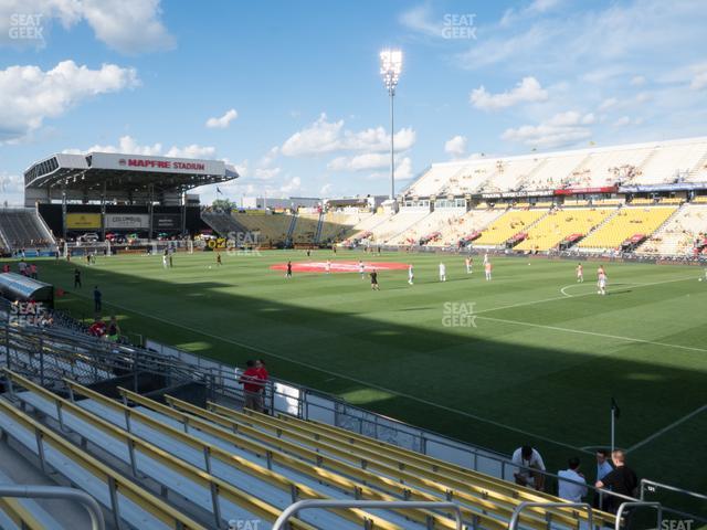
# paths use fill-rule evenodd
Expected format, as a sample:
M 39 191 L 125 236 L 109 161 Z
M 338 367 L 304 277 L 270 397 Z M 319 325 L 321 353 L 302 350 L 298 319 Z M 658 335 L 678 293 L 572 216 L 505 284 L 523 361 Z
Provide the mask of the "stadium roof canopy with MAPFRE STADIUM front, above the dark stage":
M 24 171 L 25 189 L 65 189 L 99 192 L 184 192 L 204 184 L 239 178 L 221 160 L 146 157 L 113 152 L 60 153 Z

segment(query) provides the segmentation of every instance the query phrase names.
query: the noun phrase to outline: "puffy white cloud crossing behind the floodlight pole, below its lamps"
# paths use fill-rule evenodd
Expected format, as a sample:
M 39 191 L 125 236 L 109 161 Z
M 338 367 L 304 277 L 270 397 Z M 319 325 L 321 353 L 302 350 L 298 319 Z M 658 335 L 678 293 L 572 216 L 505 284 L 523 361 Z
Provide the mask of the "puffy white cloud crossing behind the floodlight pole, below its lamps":
M 395 149 L 405 151 L 416 139 L 415 131 L 410 128 L 400 129 L 394 137 Z M 383 127 L 368 128 L 360 131 L 344 129 L 344 120 L 328 121 L 327 115 L 308 127 L 292 135 L 281 148 L 286 157 L 310 157 L 335 151 L 384 151 L 390 149 L 390 135 Z

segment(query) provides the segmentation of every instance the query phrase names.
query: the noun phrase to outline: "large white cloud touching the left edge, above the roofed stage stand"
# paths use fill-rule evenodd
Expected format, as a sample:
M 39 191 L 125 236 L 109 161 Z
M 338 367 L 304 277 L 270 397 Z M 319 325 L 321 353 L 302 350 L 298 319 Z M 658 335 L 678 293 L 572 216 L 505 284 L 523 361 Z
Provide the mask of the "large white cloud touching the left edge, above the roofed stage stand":
M 104 64 L 99 70 L 63 61 L 52 70 L 9 66 L 0 70 L 0 141 L 25 136 L 84 99 L 139 84 L 133 68 Z

